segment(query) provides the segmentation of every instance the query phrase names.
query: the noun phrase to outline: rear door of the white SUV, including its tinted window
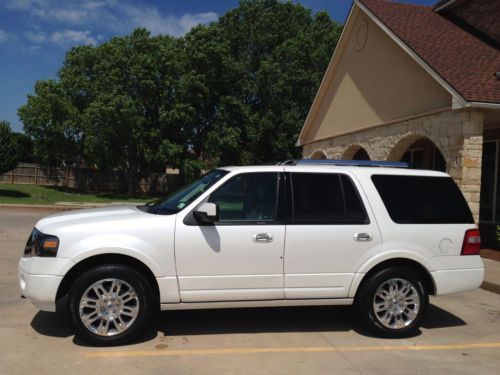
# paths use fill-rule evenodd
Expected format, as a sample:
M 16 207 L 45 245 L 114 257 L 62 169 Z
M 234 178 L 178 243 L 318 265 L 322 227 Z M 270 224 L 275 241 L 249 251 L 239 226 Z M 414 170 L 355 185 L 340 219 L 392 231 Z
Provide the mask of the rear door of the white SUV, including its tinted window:
M 290 175 L 285 298 L 347 297 L 354 273 L 381 250 L 381 237 L 356 181 L 332 173 Z

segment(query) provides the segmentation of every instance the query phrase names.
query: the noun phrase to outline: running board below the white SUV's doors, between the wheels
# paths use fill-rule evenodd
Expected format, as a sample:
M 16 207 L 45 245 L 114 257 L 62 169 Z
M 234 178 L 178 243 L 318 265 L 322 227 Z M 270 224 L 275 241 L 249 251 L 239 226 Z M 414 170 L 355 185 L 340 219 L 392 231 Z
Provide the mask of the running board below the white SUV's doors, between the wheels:
M 352 305 L 353 298 L 279 299 L 260 301 L 162 303 L 161 310 L 235 309 L 246 307 L 290 307 Z

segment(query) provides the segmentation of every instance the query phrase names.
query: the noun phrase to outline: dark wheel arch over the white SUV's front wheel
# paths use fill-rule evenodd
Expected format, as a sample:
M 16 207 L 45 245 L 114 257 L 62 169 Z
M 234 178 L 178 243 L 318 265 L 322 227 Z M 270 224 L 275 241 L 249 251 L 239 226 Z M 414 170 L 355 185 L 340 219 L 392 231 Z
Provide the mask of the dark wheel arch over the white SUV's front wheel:
M 100 265 L 119 264 L 129 266 L 140 272 L 151 285 L 155 299 L 160 300 L 160 288 L 153 271 L 142 261 L 125 254 L 108 253 L 93 255 L 75 263 L 64 275 L 56 294 L 56 303 L 68 294 L 71 285 L 83 272 Z

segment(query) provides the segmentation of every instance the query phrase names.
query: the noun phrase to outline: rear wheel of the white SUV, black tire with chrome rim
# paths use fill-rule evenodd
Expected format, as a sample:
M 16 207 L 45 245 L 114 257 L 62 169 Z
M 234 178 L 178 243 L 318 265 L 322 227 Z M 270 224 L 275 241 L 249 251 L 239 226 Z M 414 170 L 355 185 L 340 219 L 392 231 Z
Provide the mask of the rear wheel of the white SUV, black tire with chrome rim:
M 411 269 L 381 270 L 363 283 L 356 307 L 364 325 L 385 337 L 412 334 L 422 320 L 429 297 L 423 282 Z

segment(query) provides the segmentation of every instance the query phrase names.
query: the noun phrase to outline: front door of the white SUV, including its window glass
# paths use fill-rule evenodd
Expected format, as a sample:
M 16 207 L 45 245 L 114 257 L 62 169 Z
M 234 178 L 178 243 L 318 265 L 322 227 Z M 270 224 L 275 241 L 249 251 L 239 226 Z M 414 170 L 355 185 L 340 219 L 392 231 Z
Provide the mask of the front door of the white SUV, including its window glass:
M 283 299 L 285 226 L 276 223 L 278 173 L 239 174 L 208 198 L 215 225 L 179 216 L 175 254 L 181 301 Z

